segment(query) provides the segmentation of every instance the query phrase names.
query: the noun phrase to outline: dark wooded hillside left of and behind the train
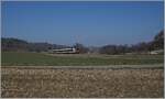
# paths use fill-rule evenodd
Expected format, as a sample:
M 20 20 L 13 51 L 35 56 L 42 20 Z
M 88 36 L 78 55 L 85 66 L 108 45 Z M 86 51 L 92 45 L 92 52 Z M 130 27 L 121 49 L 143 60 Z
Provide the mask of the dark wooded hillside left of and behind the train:
M 66 45 L 48 44 L 48 43 L 29 43 L 24 40 L 13 37 L 1 38 L 1 50 L 12 52 L 45 52 L 51 48 L 69 47 Z

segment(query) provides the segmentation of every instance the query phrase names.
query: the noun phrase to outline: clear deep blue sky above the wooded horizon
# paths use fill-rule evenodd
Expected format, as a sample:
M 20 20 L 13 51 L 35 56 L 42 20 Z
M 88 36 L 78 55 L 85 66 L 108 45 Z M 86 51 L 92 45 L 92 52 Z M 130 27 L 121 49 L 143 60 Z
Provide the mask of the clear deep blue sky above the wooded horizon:
M 152 41 L 164 29 L 162 1 L 3 1 L 2 37 L 86 46 Z

